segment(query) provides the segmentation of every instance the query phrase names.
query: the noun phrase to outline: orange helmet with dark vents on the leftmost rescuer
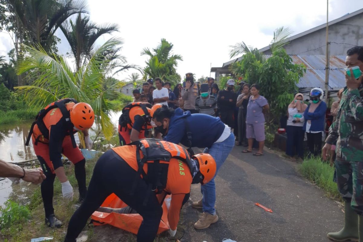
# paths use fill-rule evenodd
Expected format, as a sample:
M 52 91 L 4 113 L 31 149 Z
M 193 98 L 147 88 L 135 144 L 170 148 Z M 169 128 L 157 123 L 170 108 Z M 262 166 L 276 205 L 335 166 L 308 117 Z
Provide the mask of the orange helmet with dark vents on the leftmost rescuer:
M 94 123 L 94 111 L 88 103 L 76 103 L 70 110 L 70 121 L 78 130 L 86 130 Z

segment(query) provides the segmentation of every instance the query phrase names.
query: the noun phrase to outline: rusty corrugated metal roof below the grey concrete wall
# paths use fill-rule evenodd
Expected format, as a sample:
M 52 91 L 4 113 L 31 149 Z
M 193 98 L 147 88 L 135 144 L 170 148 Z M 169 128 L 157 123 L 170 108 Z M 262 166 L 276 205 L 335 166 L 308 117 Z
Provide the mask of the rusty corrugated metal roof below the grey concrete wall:
M 270 55 L 265 57 L 267 59 Z M 294 64 L 306 66 L 306 73 L 297 83 L 299 88 L 325 89 L 325 55 L 291 55 L 290 57 Z M 330 56 L 329 90 L 345 87 L 345 58 L 346 56 Z

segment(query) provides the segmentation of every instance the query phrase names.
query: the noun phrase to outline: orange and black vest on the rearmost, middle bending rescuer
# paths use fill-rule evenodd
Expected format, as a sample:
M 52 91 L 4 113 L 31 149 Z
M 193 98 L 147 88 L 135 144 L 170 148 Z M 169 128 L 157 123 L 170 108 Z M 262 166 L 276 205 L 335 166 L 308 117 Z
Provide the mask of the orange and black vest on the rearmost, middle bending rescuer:
M 135 122 L 135 116 L 140 115 L 145 120 L 145 126 L 143 130 L 148 130 L 152 128 L 150 124 L 150 114 L 147 110 L 147 108 L 151 108 L 152 105 L 150 103 L 146 102 L 135 102 L 130 103 L 126 105 L 124 108 L 122 108 L 122 114 L 118 120 L 118 123 L 121 128 L 129 128 L 131 130 L 132 125 Z

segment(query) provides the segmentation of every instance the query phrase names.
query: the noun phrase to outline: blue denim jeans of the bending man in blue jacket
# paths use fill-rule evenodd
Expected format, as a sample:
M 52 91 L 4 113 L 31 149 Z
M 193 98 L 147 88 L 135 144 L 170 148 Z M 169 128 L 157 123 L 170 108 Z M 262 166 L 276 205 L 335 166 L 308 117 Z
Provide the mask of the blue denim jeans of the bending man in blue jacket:
M 229 137 L 224 141 L 220 143 L 214 143 L 211 148 L 205 148 L 203 151 L 204 153 L 209 153 L 209 155 L 215 159 L 217 164 L 216 175 L 213 177 L 213 179 L 200 186 L 201 193 L 203 194 L 203 212 L 205 213 L 210 213 L 212 215 L 216 214 L 216 209 L 214 208 L 216 203 L 216 184 L 214 179 L 217 176 L 219 168 L 221 168 L 229 153 L 231 153 L 234 147 L 234 142 L 234 135 L 231 133 L 231 135 L 229 135 Z

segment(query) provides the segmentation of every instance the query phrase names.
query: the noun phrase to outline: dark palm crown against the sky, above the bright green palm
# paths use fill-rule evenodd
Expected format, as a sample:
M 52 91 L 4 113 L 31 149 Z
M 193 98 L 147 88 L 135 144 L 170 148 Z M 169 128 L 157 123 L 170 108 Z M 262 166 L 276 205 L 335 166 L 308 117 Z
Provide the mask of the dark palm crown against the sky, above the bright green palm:
M 97 25 L 91 22 L 88 16 L 82 17 L 81 13 L 76 21 L 66 21 L 60 28 L 72 49 L 77 70 L 89 59 L 99 37 L 118 31 L 117 24 Z

